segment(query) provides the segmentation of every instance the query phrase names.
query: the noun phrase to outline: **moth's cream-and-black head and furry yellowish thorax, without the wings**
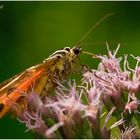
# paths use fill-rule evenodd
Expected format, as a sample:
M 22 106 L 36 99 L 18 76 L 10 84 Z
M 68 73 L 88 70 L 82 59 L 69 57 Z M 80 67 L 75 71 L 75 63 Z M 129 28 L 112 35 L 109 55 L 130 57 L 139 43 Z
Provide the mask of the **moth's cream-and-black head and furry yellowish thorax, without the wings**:
M 80 47 L 65 47 L 54 52 L 44 62 L 54 61 L 54 65 L 50 68 L 50 73 L 58 78 L 65 78 L 71 72 L 75 72 L 76 62 L 81 52 Z

